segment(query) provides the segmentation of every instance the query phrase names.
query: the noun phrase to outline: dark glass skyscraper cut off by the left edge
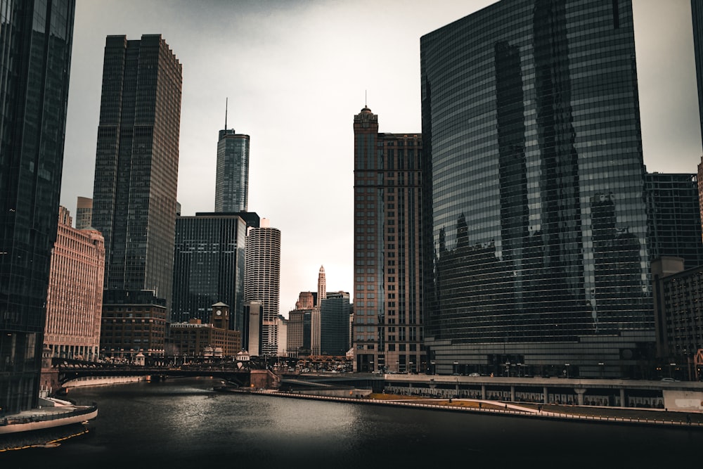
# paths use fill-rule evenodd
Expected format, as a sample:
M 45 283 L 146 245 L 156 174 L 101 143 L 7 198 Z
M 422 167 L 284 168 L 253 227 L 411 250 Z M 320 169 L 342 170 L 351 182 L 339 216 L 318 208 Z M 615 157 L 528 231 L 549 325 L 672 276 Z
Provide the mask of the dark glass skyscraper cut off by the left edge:
M 0 407 L 9 413 L 39 399 L 74 13 L 74 0 L 0 0 Z

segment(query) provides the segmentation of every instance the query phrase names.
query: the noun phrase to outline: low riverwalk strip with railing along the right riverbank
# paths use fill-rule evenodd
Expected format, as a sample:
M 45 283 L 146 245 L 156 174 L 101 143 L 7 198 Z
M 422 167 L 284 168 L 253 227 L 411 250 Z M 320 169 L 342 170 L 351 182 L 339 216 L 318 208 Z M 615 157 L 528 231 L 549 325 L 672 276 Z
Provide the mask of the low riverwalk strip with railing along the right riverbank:
M 260 394 L 271 397 L 290 399 L 315 399 L 323 401 L 348 402 L 364 405 L 384 405 L 431 409 L 436 411 L 455 411 L 482 413 L 522 418 L 541 418 L 584 423 L 602 423 L 617 425 L 646 425 L 666 428 L 703 430 L 703 413 L 673 412 L 666 409 L 631 409 L 622 407 L 567 406 L 556 404 L 533 404 L 519 402 L 491 401 L 485 399 L 432 399 L 394 394 L 369 394 L 367 397 L 338 397 L 304 392 L 279 392 L 277 390 L 230 389 L 228 392 Z

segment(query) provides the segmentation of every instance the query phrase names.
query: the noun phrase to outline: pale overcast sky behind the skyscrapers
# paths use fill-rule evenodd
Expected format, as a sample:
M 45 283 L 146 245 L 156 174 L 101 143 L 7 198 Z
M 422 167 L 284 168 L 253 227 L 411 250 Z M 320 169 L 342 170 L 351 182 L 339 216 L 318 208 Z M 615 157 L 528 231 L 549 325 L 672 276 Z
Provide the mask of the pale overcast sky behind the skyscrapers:
M 420 132 L 420 37 L 493 0 L 77 0 L 61 205 L 92 197 L 105 36 L 162 34 L 183 64 L 178 200 L 214 210 L 217 135 L 251 137 L 249 210 L 281 231 L 280 312 L 352 293 L 354 115 Z M 701 159 L 690 0 L 633 0 L 650 172 Z M 366 98 L 365 98 L 366 95 Z M 353 293 L 352 293 L 353 295 Z

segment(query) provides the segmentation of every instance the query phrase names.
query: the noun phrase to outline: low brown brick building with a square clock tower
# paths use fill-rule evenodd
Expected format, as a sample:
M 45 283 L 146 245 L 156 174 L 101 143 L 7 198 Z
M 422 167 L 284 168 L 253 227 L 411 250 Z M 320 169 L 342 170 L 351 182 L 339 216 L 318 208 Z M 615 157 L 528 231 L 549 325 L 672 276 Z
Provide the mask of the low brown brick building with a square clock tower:
M 212 320 L 202 323 L 200 319 L 172 323 L 169 329 L 169 345 L 179 361 L 189 358 L 229 358 L 237 356 L 242 349 L 241 333 L 229 328 L 231 310 L 223 302 L 212 304 Z

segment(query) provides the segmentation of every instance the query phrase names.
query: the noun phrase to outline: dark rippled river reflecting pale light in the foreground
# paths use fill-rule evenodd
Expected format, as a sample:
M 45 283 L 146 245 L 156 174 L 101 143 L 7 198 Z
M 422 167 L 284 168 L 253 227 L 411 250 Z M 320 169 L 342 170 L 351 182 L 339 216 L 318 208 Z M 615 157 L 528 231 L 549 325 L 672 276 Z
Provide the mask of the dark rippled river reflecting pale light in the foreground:
M 703 431 L 213 392 L 209 378 L 74 388 L 86 435 L 0 468 L 643 468 L 700 465 Z

